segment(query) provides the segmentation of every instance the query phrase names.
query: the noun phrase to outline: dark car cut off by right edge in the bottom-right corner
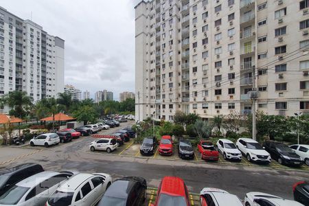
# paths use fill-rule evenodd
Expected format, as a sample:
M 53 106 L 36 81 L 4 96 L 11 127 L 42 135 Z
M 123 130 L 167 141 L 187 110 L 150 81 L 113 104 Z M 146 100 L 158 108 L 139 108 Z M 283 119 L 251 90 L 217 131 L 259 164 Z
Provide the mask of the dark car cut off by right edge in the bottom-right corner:
M 301 181 L 293 185 L 294 200 L 309 206 L 309 183 L 306 181 Z

